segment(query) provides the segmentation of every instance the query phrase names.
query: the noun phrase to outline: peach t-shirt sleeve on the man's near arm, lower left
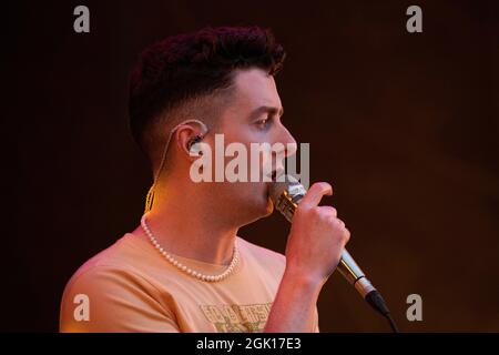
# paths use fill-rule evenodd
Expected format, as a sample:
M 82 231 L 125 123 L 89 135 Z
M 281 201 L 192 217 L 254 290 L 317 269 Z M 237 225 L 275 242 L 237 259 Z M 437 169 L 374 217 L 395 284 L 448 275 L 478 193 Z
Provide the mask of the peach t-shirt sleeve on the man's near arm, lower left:
M 61 303 L 60 332 L 176 333 L 174 313 L 141 276 L 112 266 L 74 275 Z

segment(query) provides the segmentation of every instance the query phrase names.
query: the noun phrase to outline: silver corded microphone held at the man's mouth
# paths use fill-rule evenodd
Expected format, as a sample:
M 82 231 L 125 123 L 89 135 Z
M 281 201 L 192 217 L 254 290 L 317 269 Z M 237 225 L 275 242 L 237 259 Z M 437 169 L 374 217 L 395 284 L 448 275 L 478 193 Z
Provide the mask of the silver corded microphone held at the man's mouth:
M 278 178 L 277 180 L 283 179 Z M 274 203 L 274 207 L 291 223 L 295 210 L 305 194 L 305 187 L 293 175 L 284 175 L 284 181 L 274 181 L 269 190 L 269 196 Z M 367 280 L 364 272 L 345 248 L 342 252 L 342 258 L 336 268 L 374 310 L 388 320 L 391 329 L 395 333 L 398 333 L 397 325 L 391 318 L 390 311 L 388 310 L 385 300 L 383 300 L 380 293 L 373 286 L 369 280 Z

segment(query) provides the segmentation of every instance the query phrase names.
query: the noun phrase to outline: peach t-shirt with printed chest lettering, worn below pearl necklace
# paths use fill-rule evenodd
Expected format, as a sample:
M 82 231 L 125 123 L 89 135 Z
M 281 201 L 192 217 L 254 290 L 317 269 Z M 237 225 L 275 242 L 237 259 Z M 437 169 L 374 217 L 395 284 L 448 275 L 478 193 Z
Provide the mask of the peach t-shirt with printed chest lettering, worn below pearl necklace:
M 285 256 L 236 239 L 240 262 L 207 283 L 170 264 L 145 239 L 126 233 L 71 277 L 61 303 L 61 332 L 262 332 Z M 204 274 L 226 266 L 175 256 Z M 315 310 L 314 332 L 318 332 Z

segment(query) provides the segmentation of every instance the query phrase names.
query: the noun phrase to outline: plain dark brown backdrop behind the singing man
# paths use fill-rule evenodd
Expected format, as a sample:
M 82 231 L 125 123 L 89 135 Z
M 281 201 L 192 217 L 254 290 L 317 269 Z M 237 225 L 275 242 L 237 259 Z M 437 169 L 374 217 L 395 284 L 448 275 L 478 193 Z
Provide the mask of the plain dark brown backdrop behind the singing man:
M 73 9 L 91 33 L 73 32 Z M 424 32 L 405 29 L 409 4 Z M 332 182 L 350 252 L 409 332 L 499 331 L 497 1 L 30 1 L 2 4 L 2 331 L 58 328 L 85 260 L 139 223 L 151 176 L 126 123 L 128 73 L 164 36 L 271 27 L 284 116 Z M 195 203 L 195 202 L 193 202 Z M 283 252 L 279 215 L 245 227 Z M 422 322 L 406 320 L 422 296 Z M 323 332 L 388 327 L 333 275 Z

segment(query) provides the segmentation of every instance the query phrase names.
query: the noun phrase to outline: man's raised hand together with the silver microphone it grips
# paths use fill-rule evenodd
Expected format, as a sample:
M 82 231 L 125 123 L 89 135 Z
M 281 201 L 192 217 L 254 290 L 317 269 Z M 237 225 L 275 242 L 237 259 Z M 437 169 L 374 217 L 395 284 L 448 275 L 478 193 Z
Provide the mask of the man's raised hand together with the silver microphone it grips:
M 318 205 L 324 195 L 333 194 L 332 186 L 315 183 L 306 192 L 292 175 L 283 178 L 273 183 L 271 199 L 275 209 L 292 222 L 286 270 L 322 286 L 337 267 L 367 303 L 388 320 L 391 329 L 398 332 L 385 300 L 345 250 L 350 237 L 345 223 L 333 206 Z

